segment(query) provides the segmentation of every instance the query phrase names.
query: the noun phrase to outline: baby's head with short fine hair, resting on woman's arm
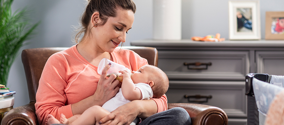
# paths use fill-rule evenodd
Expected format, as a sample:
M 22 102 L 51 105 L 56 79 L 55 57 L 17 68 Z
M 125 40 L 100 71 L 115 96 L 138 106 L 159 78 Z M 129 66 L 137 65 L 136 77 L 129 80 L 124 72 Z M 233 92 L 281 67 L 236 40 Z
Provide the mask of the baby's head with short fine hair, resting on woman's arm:
M 133 72 L 133 83 L 147 83 L 153 90 L 153 98 L 162 97 L 169 88 L 169 79 L 165 72 L 153 65 L 144 65 Z

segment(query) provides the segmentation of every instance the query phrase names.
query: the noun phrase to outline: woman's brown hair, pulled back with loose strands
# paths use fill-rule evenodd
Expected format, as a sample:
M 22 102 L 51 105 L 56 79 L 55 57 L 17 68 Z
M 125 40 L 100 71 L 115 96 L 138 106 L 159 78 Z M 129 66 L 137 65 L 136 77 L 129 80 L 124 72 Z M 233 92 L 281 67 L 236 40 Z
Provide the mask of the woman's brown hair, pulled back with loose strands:
M 90 33 L 88 25 L 94 12 L 100 13 L 100 20 L 97 26 L 102 26 L 107 22 L 108 17 L 116 17 L 117 9 L 131 10 L 136 12 L 135 3 L 132 0 L 88 0 L 86 9 L 81 17 L 81 28 L 75 36 L 75 42 L 80 42 L 80 36 L 84 33 L 83 38 L 87 33 Z

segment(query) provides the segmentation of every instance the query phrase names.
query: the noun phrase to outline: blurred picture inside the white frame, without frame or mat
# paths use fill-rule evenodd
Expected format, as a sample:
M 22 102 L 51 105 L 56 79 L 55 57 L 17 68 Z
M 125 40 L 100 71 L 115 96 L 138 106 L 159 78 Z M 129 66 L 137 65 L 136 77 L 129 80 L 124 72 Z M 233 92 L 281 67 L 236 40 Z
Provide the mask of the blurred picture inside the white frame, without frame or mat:
M 252 32 L 252 9 L 237 8 L 237 31 Z

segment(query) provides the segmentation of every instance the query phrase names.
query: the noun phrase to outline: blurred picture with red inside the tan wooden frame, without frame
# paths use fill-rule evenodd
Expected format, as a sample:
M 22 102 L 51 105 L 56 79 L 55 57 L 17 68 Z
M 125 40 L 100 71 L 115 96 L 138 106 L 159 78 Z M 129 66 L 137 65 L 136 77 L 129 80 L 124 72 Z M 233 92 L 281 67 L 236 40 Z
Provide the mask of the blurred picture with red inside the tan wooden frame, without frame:
M 272 18 L 271 34 L 284 34 L 284 17 Z

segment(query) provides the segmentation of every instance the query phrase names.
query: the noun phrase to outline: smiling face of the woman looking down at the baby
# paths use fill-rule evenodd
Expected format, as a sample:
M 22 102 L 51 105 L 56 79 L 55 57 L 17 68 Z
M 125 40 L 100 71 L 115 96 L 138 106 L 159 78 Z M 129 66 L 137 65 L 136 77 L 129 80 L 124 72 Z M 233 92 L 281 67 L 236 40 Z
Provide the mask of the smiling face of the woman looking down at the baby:
M 113 52 L 121 42 L 125 42 L 126 33 L 132 28 L 133 21 L 132 11 L 118 9 L 116 17 L 109 17 L 103 26 L 92 28 L 96 46 L 102 52 Z

